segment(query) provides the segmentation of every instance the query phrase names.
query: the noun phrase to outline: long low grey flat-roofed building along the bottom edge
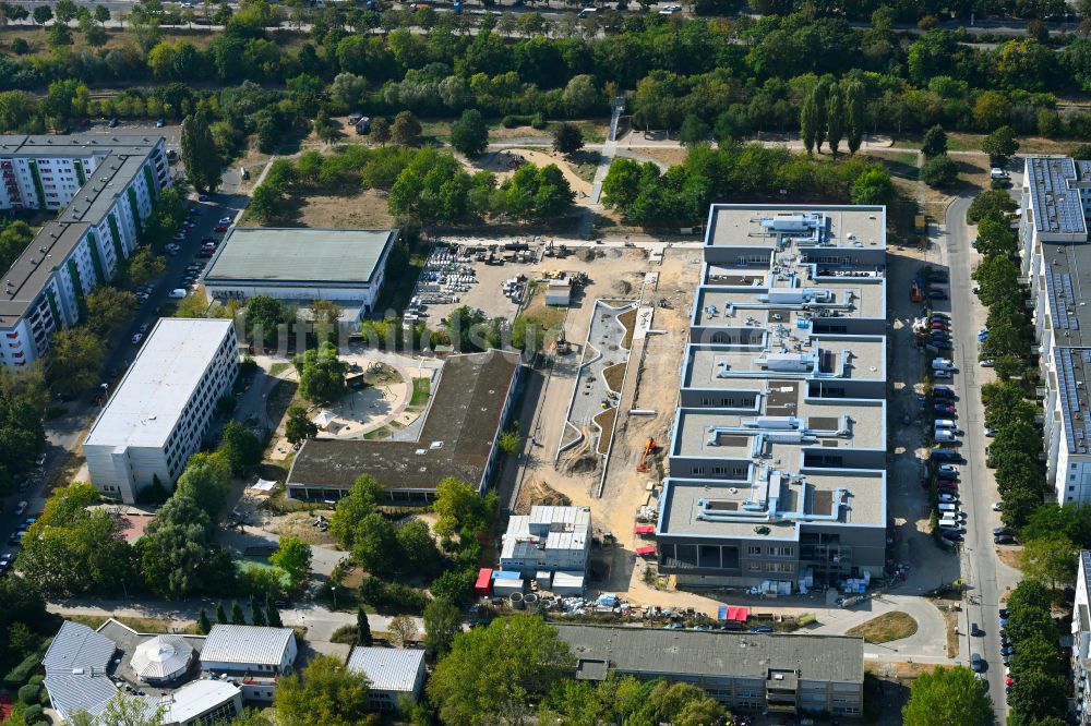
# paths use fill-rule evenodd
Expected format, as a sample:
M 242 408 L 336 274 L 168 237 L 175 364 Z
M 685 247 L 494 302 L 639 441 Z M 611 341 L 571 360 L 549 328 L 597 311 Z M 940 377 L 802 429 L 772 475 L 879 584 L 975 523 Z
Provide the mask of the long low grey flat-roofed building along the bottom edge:
M 864 641 L 844 636 L 555 625 L 578 680 L 693 683 L 732 711 L 860 716 Z

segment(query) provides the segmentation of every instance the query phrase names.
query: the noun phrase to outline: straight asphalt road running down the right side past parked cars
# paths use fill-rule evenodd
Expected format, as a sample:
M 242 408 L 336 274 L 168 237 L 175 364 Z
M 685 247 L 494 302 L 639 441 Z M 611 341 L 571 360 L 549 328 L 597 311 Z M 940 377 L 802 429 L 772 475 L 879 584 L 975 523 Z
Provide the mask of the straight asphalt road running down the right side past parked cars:
M 955 341 L 955 365 L 958 367 L 951 386 L 958 394 L 959 426 L 962 437 L 960 467 L 960 496 L 967 521 L 966 541 L 962 544 L 962 577 L 968 584 L 963 609 L 962 637 L 969 639 L 969 652 L 980 654 L 988 664 L 988 693 L 993 699 L 997 723 L 1007 723 L 1007 699 L 1004 693 L 1004 664 L 1000 661 L 999 595 L 1010 582 L 998 582 L 1002 569 L 993 544 L 993 528 L 999 524 L 992 511 L 992 503 L 999 497 L 993 477 L 985 468 L 984 409 L 981 404 L 981 385 L 992 379 L 992 373 L 978 364 L 978 325 L 974 306 L 979 305 L 971 292 L 971 266 L 976 257 L 970 242 L 975 237 L 966 223 L 966 210 L 972 195 L 962 195 L 947 208 L 944 237 L 939 240 L 944 259 L 950 273 L 950 310 Z M 1005 568 L 1006 569 L 1006 568 Z M 1006 574 L 1006 573 L 1003 573 Z M 1005 577 L 1010 580 L 1010 577 Z M 976 622 L 983 637 L 970 638 L 968 624 Z

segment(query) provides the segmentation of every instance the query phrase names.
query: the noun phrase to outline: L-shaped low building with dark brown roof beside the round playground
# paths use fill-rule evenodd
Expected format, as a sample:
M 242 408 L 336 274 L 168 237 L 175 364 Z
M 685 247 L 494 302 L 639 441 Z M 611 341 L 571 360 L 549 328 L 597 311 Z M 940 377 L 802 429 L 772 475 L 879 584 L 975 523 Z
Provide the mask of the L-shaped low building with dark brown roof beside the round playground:
M 288 471 L 288 494 L 308 501 L 336 501 L 361 474 L 374 476 L 392 503 L 427 503 L 448 476 L 483 493 L 523 368 L 518 353 L 451 355 L 422 422 L 388 440 L 304 441 Z

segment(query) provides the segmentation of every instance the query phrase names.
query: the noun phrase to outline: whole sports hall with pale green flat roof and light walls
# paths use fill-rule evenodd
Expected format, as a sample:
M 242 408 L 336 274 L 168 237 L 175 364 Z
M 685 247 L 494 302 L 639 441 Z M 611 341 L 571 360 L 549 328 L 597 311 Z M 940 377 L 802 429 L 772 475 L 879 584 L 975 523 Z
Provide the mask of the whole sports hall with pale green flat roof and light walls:
M 374 310 L 397 230 L 233 227 L 202 277 L 208 302 L 271 295 Z

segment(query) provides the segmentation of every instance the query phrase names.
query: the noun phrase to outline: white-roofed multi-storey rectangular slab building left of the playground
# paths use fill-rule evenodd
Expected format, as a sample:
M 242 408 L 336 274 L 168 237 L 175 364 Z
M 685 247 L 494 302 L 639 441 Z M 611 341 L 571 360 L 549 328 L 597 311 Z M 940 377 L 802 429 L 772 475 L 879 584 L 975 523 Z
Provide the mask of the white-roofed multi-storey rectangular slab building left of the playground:
M 125 504 L 156 480 L 169 488 L 237 373 L 230 320 L 161 318 L 84 441 L 92 484 Z

